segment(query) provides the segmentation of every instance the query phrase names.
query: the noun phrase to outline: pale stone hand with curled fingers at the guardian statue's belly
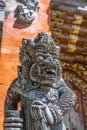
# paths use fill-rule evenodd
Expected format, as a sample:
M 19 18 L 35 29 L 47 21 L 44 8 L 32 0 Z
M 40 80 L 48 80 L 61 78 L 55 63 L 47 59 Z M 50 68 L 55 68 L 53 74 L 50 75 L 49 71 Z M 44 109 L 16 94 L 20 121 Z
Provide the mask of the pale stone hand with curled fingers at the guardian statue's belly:
M 41 101 L 35 101 L 31 105 L 31 115 L 32 118 L 35 120 L 45 118 L 47 119 L 47 122 L 49 124 L 54 124 L 54 118 L 53 115 L 48 107 L 48 105 L 44 104 Z

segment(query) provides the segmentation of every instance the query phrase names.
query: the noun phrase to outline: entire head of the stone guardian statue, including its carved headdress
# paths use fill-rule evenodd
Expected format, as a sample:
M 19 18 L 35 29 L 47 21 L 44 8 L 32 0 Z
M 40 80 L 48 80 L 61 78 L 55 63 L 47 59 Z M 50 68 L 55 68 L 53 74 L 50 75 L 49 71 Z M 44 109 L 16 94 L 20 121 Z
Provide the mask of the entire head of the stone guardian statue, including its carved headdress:
M 61 67 L 58 60 L 60 48 L 50 36 L 40 33 L 32 40 L 23 39 L 20 48 L 22 76 L 31 84 L 56 87 L 61 78 Z

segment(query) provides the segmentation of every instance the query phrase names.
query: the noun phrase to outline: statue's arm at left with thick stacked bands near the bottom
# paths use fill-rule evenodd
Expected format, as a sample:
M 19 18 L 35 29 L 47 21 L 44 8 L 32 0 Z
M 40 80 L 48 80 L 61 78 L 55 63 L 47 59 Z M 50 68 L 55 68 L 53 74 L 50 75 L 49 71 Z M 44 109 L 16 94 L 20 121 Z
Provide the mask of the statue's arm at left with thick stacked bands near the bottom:
M 9 88 L 4 104 L 4 130 L 22 130 L 23 119 L 17 110 L 20 95 Z

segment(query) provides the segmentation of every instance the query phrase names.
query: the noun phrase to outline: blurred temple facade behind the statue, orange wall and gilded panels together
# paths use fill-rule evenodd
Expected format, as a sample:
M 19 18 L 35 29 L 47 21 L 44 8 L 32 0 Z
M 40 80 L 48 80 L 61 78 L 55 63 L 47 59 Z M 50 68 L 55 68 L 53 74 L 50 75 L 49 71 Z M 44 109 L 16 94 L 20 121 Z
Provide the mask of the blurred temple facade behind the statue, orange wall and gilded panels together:
M 0 130 L 7 89 L 17 76 L 22 38 L 34 39 L 39 32 L 52 34 L 61 47 L 63 77 L 77 95 L 77 101 L 64 121 L 67 130 L 87 129 L 87 2 L 39 0 L 35 19 L 24 24 L 14 12 L 20 1 L 0 1 Z M 71 4 L 72 3 L 72 4 Z M 13 6 L 14 5 L 14 6 Z M 32 5 L 31 5 L 32 6 Z M 26 11 L 25 11 L 26 12 Z M 19 107 L 20 109 L 20 107 Z M 67 119 L 67 120 L 66 120 Z

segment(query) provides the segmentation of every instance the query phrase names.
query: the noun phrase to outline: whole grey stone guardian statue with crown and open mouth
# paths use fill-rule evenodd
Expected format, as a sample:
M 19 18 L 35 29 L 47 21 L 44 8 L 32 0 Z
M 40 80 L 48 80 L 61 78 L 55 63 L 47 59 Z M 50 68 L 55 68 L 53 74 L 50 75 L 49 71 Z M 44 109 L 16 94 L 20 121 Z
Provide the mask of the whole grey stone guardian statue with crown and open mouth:
M 62 119 L 76 96 L 62 78 L 59 51 L 43 32 L 22 40 L 18 77 L 5 99 L 4 130 L 65 130 Z

